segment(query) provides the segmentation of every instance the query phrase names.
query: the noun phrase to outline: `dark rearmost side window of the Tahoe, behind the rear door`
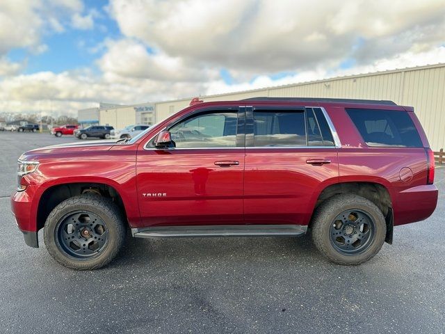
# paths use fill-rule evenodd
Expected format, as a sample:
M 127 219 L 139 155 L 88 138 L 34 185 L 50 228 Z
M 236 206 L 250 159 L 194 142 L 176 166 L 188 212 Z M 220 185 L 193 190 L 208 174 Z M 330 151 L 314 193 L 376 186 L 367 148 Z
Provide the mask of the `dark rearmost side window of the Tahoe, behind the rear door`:
M 366 145 L 374 147 L 423 147 L 410 116 L 404 111 L 346 109 Z

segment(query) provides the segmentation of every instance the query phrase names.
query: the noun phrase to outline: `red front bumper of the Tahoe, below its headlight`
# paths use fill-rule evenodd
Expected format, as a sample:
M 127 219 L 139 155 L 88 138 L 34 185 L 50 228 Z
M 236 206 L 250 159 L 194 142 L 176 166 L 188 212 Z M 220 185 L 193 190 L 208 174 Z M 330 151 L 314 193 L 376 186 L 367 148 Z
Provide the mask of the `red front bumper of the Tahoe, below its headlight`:
M 32 205 L 34 195 L 34 186 L 27 186 L 24 191 L 14 191 L 11 195 L 11 209 L 19 230 L 24 234 L 26 245 L 37 248 L 37 222 Z

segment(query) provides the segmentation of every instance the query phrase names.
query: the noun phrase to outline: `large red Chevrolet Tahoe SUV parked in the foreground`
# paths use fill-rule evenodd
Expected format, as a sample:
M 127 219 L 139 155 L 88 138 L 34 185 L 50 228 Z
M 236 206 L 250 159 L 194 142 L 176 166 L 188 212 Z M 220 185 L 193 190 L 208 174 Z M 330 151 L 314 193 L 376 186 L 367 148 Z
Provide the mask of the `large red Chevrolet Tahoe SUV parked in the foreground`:
M 255 98 L 193 104 L 132 139 L 19 158 L 11 204 L 26 244 L 72 269 L 133 237 L 297 236 L 360 264 L 437 204 L 414 110 L 389 101 Z

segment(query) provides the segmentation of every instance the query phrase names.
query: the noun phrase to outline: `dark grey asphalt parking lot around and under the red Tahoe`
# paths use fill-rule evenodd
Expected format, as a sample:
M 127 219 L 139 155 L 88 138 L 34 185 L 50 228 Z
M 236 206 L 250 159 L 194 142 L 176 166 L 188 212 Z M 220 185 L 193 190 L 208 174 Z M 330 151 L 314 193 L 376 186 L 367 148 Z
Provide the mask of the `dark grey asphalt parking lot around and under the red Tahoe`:
M 73 141 L 0 132 L 0 195 L 19 154 Z M 359 267 L 301 238 L 129 239 L 97 271 L 72 271 L 24 244 L 0 196 L 2 333 L 444 333 L 445 168 L 427 221 Z

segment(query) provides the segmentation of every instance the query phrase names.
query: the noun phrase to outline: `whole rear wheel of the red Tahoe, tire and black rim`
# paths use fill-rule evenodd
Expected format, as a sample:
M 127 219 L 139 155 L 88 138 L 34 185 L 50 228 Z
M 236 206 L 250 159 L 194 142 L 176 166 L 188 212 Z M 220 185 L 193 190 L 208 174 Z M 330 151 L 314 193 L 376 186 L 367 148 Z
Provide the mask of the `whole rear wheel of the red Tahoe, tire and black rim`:
M 316 209 L 312 240 L 320 252 L 338 264 L 361 264 L 385 242 L 387 225 L 380 209 L 357 195 L 337 195 Z

